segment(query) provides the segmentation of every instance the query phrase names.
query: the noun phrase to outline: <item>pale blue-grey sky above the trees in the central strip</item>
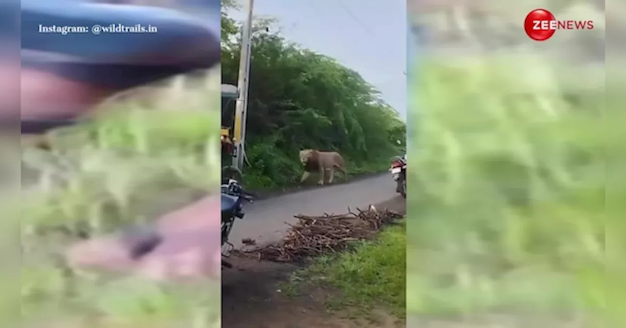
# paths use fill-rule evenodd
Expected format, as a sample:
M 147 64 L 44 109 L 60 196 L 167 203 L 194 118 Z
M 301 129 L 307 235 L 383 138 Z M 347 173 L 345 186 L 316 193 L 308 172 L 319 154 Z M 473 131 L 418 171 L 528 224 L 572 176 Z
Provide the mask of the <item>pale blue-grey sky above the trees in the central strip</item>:
M 277 18 L 285 39 L 359 72 L 406 121 L 406 0 L 255 0 L 254 15 Z

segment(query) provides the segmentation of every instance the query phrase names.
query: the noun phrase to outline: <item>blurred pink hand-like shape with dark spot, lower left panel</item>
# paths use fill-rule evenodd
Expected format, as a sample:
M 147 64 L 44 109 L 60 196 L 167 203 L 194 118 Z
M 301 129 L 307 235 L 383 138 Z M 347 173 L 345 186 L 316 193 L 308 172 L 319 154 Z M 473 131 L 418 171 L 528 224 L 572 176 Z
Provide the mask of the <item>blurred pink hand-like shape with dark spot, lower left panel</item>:
M 128 272 L 149 279 L 219 279 L 222 267 L 218 196 L 210 196 L 156 222 L 162 242 L 134 260 L 118 237 L 80 242 L 68 251 L 69 264 L 82 269 Z

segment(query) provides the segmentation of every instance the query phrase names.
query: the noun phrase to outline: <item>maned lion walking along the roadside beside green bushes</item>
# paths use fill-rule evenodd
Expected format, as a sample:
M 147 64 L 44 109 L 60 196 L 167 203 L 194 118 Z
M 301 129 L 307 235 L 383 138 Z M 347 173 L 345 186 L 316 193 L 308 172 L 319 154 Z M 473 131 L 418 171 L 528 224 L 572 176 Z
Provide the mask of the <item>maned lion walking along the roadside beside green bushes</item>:
M 319 181 L 317 184 L 324 184 L 324 172 L 330 171 L 328 183 L 332 184 L 335 177 L 335 170 L 340 169 L 343 174 L 346 172 L 346 162 L 344 158 L 336 151 L 318 151 L 316 149 L 304 149 L 300 151 L 300 162 L 304 165 L 304 174 L 300 183 L 304 182 L 309 176 L 310 172 L 318 171 Z

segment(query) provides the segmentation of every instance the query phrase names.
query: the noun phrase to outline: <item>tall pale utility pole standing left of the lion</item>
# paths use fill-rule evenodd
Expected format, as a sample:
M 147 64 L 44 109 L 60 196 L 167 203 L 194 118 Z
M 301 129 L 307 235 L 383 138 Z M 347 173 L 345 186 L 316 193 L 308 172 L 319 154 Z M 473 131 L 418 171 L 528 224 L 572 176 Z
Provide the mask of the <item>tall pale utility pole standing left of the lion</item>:
M 238 169 L 244 167 L 245 126 L 248 112 L 248 87 L 250 86 L 250 50 L 252 49 L 252 6 L 254 0 L 247 1 L 247 17 L 242 28 L 241 57 L 239 59 L 239 79 L 237 81 L 237 103 L 235 104 L 235 129 L 233 144 L 235 157 L 233 166 Z

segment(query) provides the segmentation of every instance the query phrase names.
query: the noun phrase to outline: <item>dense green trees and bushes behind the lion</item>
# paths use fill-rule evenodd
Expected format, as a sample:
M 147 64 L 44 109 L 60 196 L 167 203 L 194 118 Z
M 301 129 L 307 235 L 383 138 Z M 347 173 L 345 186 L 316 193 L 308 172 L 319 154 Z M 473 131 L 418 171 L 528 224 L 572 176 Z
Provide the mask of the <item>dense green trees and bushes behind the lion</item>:
M 384 169 L 406 139 L 398 112 L 357 72 L 285 40 L 273 24 L 257 19 L 253 27 L 246 183 L 294 184 L 306 148 L 341 152 L 351 173 Z M 223 12 L 223 83 L 237 84 L 240 39 L 240 25 Z M 232 126 L 233 112 L 233 103 L 223 110 L 224 126 Z

